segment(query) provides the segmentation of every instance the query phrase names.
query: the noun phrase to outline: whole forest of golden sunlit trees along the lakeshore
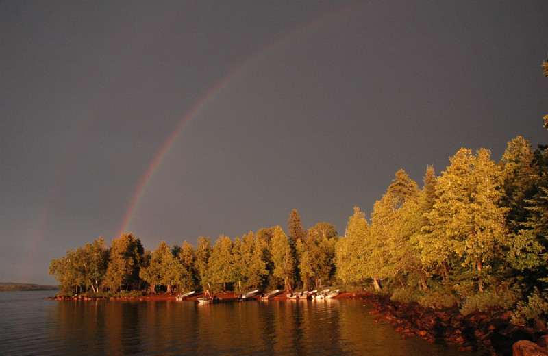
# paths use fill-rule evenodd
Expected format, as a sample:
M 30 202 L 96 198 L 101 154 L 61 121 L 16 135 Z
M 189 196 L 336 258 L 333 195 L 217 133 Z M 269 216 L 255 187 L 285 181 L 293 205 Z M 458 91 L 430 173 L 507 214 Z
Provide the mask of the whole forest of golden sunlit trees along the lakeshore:
M 516 322 L 548 314 L 548 146 L 518 136 L 498 162 L 463 148 L 449 163 L 439 175 L 428 166 L 421 188 L 398 170 L 369 218 L 354 207 L 343 236 L 329 223 L 304 229 L 293 209 L 287 233 L 200 236 L 196 247 L 100 237 L 53 259 L 49 274 L 90 296 L 340 285 L 463 313 L 513 310 Z

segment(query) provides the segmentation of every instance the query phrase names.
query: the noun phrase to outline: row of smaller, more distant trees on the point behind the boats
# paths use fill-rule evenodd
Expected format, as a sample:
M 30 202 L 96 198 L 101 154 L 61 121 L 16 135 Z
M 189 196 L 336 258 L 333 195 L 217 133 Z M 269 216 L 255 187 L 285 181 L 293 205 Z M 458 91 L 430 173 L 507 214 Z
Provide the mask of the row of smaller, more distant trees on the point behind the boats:
M 49 274 L 64 293 L 177 290 L 306 288 L 335 281 L 334 225 L 303 229 L 296 209 L 288 221 L 289 236 L 279 227 L 249 231 L 241 238 L 220 236 L 212 245 L 200 236 L 196 248 L 186 240 L 170 247 L 162 241 L 145 250 L 139 238 L 122 234 L 109 246 L 103 237 L 53 259 Z

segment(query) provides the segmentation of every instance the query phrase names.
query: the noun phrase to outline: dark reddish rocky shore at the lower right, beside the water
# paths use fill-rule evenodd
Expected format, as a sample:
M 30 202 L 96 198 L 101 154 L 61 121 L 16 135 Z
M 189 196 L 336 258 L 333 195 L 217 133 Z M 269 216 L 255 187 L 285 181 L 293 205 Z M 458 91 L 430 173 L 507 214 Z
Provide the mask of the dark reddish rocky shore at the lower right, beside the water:
M 484 350 L 493 356 L 548 355 L 546 320 L 534 320 L 532 327 L 510 323 L 510 312 L 462 315 L 455 308 L 432 309 L 417 303 L 399 303 L 375 295 L 356 295 L 370 303 L 403 338 L 455 346 L 460 351 Z

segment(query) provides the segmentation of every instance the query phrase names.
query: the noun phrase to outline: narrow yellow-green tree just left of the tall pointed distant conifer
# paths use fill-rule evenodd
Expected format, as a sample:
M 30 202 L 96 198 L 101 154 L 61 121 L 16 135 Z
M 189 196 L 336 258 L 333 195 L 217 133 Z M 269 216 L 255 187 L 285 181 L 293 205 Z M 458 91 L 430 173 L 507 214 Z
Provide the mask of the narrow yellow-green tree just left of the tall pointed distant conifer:
M 295 272 L 295 257 L 288 237 L 281 227 L 275 227 L 274 236 L 269 247 L 274 264 L 274 277 L 284 281 L 285 290 L 291 290 L 292 276 Z

